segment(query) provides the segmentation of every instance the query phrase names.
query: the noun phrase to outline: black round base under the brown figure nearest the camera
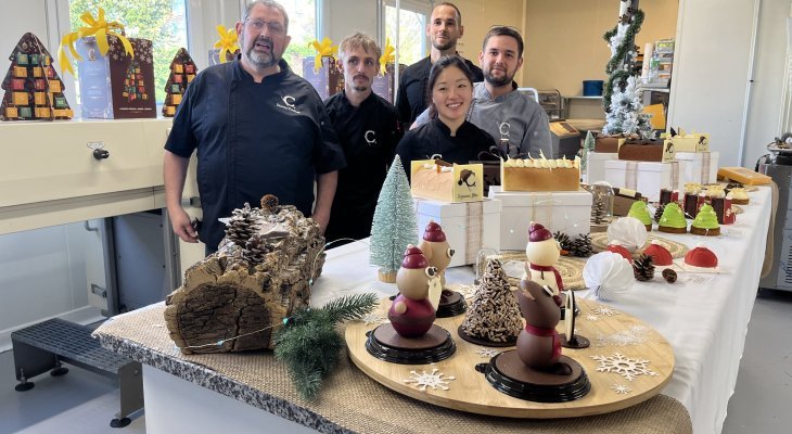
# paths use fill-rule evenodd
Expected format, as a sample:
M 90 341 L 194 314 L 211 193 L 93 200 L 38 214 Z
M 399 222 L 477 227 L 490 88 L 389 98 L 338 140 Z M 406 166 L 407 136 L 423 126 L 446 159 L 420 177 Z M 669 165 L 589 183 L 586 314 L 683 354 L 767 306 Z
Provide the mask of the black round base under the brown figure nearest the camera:
M 534 403 L 567 403 L 579 399 L 591 391 L 591 383 L 583 369 L 577 378 L 562 384 L 537 384 L 513 379 L 497 368 L 498 358 L 509 353 L 511 352 L 493 357 L 484 372 L 493 387 L 509 396 Z M 569 362 L 572 359 L 565 358 L 565 360 Z M 576 363 L 574 360 L 572 362 Z

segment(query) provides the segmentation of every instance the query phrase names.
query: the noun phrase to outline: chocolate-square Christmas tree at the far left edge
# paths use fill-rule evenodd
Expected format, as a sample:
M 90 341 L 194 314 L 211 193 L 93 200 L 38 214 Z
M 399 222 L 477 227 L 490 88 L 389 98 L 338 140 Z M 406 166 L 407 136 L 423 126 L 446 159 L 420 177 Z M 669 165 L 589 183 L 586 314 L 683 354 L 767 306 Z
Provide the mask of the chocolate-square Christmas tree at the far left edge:
M 9 56 L 11 66 L 2 81 L 2 120 L 71 119 L 72 108 L 63 94 L 63 81 L 52 56 L 36 35 L 27 33 Z

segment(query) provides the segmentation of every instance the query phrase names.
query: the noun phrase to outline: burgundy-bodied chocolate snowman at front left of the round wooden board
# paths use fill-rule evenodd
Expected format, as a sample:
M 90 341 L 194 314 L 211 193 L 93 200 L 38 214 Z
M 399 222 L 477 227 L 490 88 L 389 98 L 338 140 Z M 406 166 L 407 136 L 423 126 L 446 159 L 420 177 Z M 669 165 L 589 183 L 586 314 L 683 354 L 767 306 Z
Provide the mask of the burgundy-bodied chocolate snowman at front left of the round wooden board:
M 399 335 L 421 336 L 435 320 L 435 307 L 429 296 L 431 286 L 439 286 L 439 279 L 437 269 L 431 267 L 423 252 L 412 244 L 407 245 L 401 268 L 396 273 L 396 286 L 399 295 L 394 298 L 387 318 Z

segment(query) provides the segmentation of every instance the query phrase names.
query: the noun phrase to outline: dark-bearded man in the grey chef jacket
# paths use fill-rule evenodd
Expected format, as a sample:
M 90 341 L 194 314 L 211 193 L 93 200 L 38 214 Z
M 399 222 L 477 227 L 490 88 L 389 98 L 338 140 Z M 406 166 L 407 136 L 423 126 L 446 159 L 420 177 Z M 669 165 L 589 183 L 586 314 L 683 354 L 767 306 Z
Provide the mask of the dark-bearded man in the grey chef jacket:
M 478 61 L 484 81 L 473 86 L 468 120 L 489 132 L 503 155 L 552 155 L 547 113 L 534 99 L 516 91 L 514 76 L 523 66 L 523 38 L 511 27 L 496 26 L 484 37 Z M 412 128 L 429 122 L 422 113 Z

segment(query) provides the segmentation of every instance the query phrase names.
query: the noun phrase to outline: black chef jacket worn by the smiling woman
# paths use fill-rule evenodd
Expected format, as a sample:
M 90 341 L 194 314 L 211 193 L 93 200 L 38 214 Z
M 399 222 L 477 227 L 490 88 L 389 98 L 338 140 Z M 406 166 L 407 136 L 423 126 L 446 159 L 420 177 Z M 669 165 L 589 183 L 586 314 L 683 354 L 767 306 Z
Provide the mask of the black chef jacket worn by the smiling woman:
M 407 131 L 396 152 L 409 178 L 410 162 L 413 159 L 430 159 L 437 154 L 448 163 L 468 164 L 481 159 L 478 153 L 494 145 L 491 136 L 468 120 L 457 129 L 457 136 L 451 137 L 451 130 L 435 118 Z

